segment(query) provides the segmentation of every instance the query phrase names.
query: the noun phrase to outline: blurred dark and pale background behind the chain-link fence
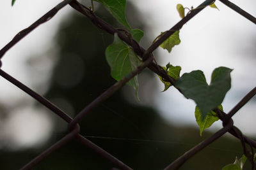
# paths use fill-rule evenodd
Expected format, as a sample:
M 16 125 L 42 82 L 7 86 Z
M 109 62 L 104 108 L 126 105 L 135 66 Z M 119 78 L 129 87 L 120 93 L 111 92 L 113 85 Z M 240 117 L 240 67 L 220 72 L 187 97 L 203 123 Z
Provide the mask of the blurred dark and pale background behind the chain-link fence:
M 11 1 L 0 6 L 0 48 L 61 1 Z M 232 1 L 256 16 L 256 1 Z M 90 5 L 89 1 L 81 1 Z M 202 1 L 127 1 L 127 20 L 140 28 L 147 48 L 162 31 L 179 22 L 178 3 L 194 8 Z M 181 66 L 183 73 L 201 69 L 207 81 L 215 67 L 232 71 L 232 89 L 223 102 L 228 112 L 256 85 L 255 24 L 224 4 L 206 8 L 180 31 L 181 43 L 172 53 L 157 49 L 157 62 Z M 95 3 L 95 12 L 115 27 L 116 20 Z M 104 52 L 113 36 L 65 6 L 3 57 L 2 69 L 75 117 L 115 80 Z M 81 134 L 134 169 L 163 169 L 189 148 L 221 128 L 216 122 L 203 136 L 195 122 L 195 103 L 176 89 L 161 92 L 159 78 L 147 69 L 139 76 L 141 101 L 124 87 L 81 122 Z M 8 81 L 0 78 L 0 169 L 19 169 L 67 134 L 67 124 Z M 244 134 L 255 138 L 255 97 L 235 116 Z M 221 169 L 243 155 L 241 144 L 226 134 L 180 169 Z M 250 168 L 250 164 L 246 165 Z M 110 169 L 106 160 L 73 141 L 35 169 Z

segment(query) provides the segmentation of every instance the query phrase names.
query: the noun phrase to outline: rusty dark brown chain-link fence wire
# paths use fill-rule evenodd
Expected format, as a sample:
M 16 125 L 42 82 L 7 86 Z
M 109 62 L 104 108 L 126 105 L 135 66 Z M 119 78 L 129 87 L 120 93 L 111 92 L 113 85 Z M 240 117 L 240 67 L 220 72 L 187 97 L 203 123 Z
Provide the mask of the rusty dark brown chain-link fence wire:
M 65 120 L 68 123 L 68 131 L 69 132 L 68 132 L 68 134 L 66 134 L 66 136 L 64 136 L 62 139 L 60 139 L 60 141 L 54 143 L 54 145 L 47 148 L 47 150 L 45 150 L 40 155 L 35 157 L 35 159 L 28 162 L 28 164 L 26 164 L 21 169 L 32 169 L 33 167 L 36 166 L 36 164 L 43 161 L 47 156 L 51 155 L 52 152 L 54 152 L 55 150 L 58 150 L 58 148 L 65 145 L 72 139 L 76 139 L 77 141 L 82 143 L 87 148 L 90 148 L 91 150 L 93 150 L 93 152 L 99 154 L 101 157 L 103 157 L 104 159 L 111 162 L 113 164 L 113 169 L 116 169 L 116 168 L 132 169 L 131 167 L 125 165 L 124 162 L 121 162 L 120 160 L 113 157 L 113 155 L 111 155 L 110 153 L 106 152 L 99 146 L 95 145 L 88 139 L 84 138 L 84 136 L 82 136 L 79 133 L 80 132 L 79 122 L 81 122 L 81 120 L 83 120 L 83 118 L 86 117 L 86 115 L 88 113 L 90 113 L 90 111 L 92 111 L 94 108 L 99 106 L 99 104 L 101 104 L 103 101 L 108 99 L 110 96 L 115 94 L 116 90 L 123 87 L 125 85 L 125 83 L 127 83 L 127 81 L 131 80 L 131 78 L 136 76 L 136 74 L 139 74 L 141 71 L 143 71 L 143 69 L 145 69 L 145 67 L 148 67 L 151 71 L 153 71 L 154 73 L 163 77 L 165 81 L 169 81 L 175 87 L 175 79 L 172 78 L 172 76 L 169 76 L 168 74 L 166 74 L 166 71 L 161 69 L 161 66 L 159 66 L 153 62 L 154 56 L 153 56 L 152 52 L 154 52 L 154 50 L 156 50 L 156 48 L 159 45 L 161 45 L 161 43 L 163 43 L 163 41 L 165 41 L 167 38 L 169 38 L 173 34 L 173 32 L 180 30 L 182 28 L 182 26 L 184 24 L 186 24 L 186 22 L 188 22 L 188 20 L 193 18 L 200 11 L 204 10 L 204 8 L 206 6 L 208 6 L 209 4 L 214 3 L 214 1 L 215 0 L 204 1 L 204 3 L 200 4 L 200 6 L 195 8 L 195 10 L 191 11 L 191 13 L 186 15 L 186 17 L 184 17 L 182 20 L 180 20 L 180 22 L 175 24 L 169 31 L 166 31 L 165 34 L 163 34 L 163 36 L 161 36 L 159 39 L 157 39 L 157 41 L 152 43 L 152 45 L 150 45 L 147 48 L 147 50 L 145 50 L 134 39 L 132 39 L 131 34 L 125 32 L 125 31 L 122 31 L 120 29 L 116 29 L 112 25 L 109 25 L 108 23 L 104 22 L 99 17 L 97 17 L 95 15 L 95 13 L 93 13 L 92 10 L 90 10 L 89 8 L 86 8 L 86 6 L 83 6 L 83 4 L 78 3 L 76 0 L 62 1 L 60 4 L 58 4 L 54 8 L 52 8 L 52 10 L 45 13 L 45 15 L 43 17 L 39 18 L 35 23 L 30 25 L 28 28 L 20 31 L 12 39 L 12 41 L 10 41 L 10 43 L 8 43 L 6 46 L 4 46 L 0 50 L 0 59 L 3 57 L 4 53 L 6 53 L 10 48 L 12 48 L 22 38 L 24 38 L 24 36 L 29 34 L 29 32 L 33 31 L 33 29 L 38 27 L 40 24 L 43 24 L 44 22 L 47 22 L 48 20 L 50 20 L 52 17 L 54 17 L 54 15 L 56 15 L 56 13 L 58 13 L 59 10 L 61 10 L 61 8 L 63 8 L 63 6 L 66 6 L 67 4 L 69 4 L 70 6 L 72 6 L 72 8 L 74 8 L 74 10 L 79 11 L 79 13 L 83 14 L 85 17 L 88 17 L 93 22 L 93 24 L 95 24 L 96 27 L 99 27 L 99 29 L 106 31 L 109 34 L 117 33 L 118 37 L 120 39 L 122 39 L 122 41 L 127 43 L 127 45 L 131 46 L 132 49 L 134 50 L 134 52 L 143 59 L 143 62 L 140 66 L 138 66 L 136 69 L 134 69 L 130 74 L 125 76 L 122 80 L 116 82 L 114 85 L 109 87 L 108 90 L 103 92 L 99 97 L 97 97 L 94 101 L 92 101 L 92 103 L 88 104 L 88 106 L 86 106 L 74 118 L 68 116 L 67 113 L 60 110 L 60 108 L 58 108 L 57 106 L 54 106 L 54 104 L 49 102 L 47 99 L 40 96 L 33 90 L 29 89 L 29 87 L 27 87 L 26 85 L 24 85 L 23 83 L 16 80 L 12 76 L 10 76 L 8 73 L 5 73 L 2 69 L 0 69 L 0 76 L 5 78 L 6 80 L 10 81 L 10 83 L 17 86 L 20 90 L 23 90 L 24 92 L 26 92 L 26 94 L 33 97 L 39 103 L 41 103 L 42 105 L 47 107 L 49 110 L 51 110 L 53 113 L 55 113 L 56 115 L 58 115 L 59 117 L 61 117 L 63 120 Z M 239 13 L 243 17 L 247 18 L 248 20 L 250 20 L 251 22 L 256 24 L 256 18 L 253 17 L 252 15 L 250 15 L 249 13 L 247 13 L 246 11 L 242 10 L 238 6 L 236 6 L 236 4 L 231 3 L 230 1 L 227 1 L 227 0 L 220 0 L 220 1 L 221 1 L 221 3 L 227 5 L 232 10 L 237 11 L 237 13 Z M 0 68 L 1 68 L 1 65 L 2 65 L 2 62 L 0 60 Z M 182 93 L 181 90 L 179 90 L 179 91 Z M 198 145 L 196 145 L 193 148 L 191 148 L 190 150 L 188 150 L 188 152 L 184 153 L 182 156 L 180 156 L 179 158 L 174 160 L 165 169 L 178 169 L 180 166 L 182 166 L 182 164 L 184 164 L 184 162 L 186 162 L 186 160 L 188 160 L 190 157 L 192 157 L 196 153 L 200 152 L 200 150 L 204 149 L 206 146 L 208 146 L 209 144 L 214 142 L 216 139 L 223 136 L 223 134 L 225 134 L 226 132 L 229 132 L 230 134 L 232 134 L 233 136 L 235 136 L 236 138 L 238 138 L 241 141 L 244 155 L 246 155 L 246 157 L 248 157 L 248 159 L 252 163 L 252 169 L 255 169 L 255 167 L 256 167 L 255 162 L 253 162 L 253 153 L 254 153 L 253 148 L 256 148 L 256 141 L 244 136 L 243 133 L 241 131 L 239 131 L 239 129 L 236 126 L 234 126 L 234 122 L 232 120 L 232 117 L 237 113 L 237 111 L 239 109 L 241 109 L 244 106 L 244 104 L 246 104 L 250 99 L 252 99 L 252 97 L 255 96 L 255 94 L 256 94 L 256 87 L 253 90 L 251 90 L 250 92 L 248 92 L 248 94 L 246 94 L 246 96 L 243 97 L 243 99 L 241 99 L 241 101 L 239 101 L 239 103 L 237 103 L 237 105 L 234 106 L 234 108 L 232 108 L 232 110 L 230 110 L 227 114 L 224 113 L 223 111 L 221 111 L 220 109 L 215 108 L 213 111 L 215 111 L 218 114 L 218 117 L 220 118 L 220 120 L 223 121 L 223 128 L 220 129 L 220 131 L 213 134 L 210 138 L 205 139 Z M 248 147 L 246 147 L 246 145 L 250 146 L 249 147 L 250 149 L 248 149 Z

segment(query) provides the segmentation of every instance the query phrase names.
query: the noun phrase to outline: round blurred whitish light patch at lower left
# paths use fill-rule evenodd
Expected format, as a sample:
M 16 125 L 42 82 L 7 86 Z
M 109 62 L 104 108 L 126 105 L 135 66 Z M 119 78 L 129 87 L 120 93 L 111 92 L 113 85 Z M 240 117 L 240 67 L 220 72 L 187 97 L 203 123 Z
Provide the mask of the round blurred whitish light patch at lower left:
M 11 150 L 40 145 L 51 136 L 53 122 L 44 110 L 27 106 L 8 114 L 4 122 L 1 140 Z

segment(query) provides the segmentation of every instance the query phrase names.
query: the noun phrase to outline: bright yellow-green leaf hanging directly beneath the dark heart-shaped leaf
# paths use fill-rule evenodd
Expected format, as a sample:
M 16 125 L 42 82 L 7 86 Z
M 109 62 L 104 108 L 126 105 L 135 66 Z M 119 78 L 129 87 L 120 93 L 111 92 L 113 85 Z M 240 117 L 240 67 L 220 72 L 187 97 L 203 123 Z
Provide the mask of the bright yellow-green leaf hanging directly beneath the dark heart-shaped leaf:
M 218 108 L 220 110 L 223 110 L 222 106 L 218 106 Z M 200 136 L 202 136 L 202 133 L 205 129 L 207 129 L 208 127 L 211 127 L 211 125 L 216 122 L 217 120 L 219 120 L 219 118 L 217 117 L 217 113 L 215 113 L 214 111 L 209 111 L 206 115 L 206 117 L 203 119 L 202 118 L 202 113 L 199 110 L 199 108 L 196 106 L 195 109 L 195 117 L 196 117 L 196 123 L 198 124 L 199 128 L 200 128 Z

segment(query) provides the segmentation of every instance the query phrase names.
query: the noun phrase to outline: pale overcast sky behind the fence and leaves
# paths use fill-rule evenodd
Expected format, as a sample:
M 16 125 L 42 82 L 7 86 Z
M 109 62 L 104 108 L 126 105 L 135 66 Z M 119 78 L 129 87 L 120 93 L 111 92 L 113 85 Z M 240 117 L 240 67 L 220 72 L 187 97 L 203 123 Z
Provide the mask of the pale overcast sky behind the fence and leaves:
M 45 0 L 17 0 L 15 5 L 11 7 L 11 0 L 1 2 L 0 6 L 0 48 L 3 48 L 17 32 L 31 25 L 35 20 L 42 17 L 47 11 L 51 10 L 56 4 L 61 1 Z M 202 1 L 199 0 L 132 0 L 138 9 L 145 16 L 145 22 L 148 24 L 148 29 L 145 34 L 152 35 L 152 41 L 160 32 L 170 29 L 173 25 L 179 22 L 179 13 L 176 11 L 178 3 L 183 6 L 194 8 Z M 235 0 L 233 3 L 239 5 L 244 10 L 256 16 L 256 1 L 255 0 Z M 180 31 L 181 43 L 175 46 L 172 53 L 166 50 L 157 49 L 158 55 L 156 56 L 157 62 L 165 66 L 168 62 L 174 66 L 181 66 L 183 73 L 201 69 L 205 73 L 207 81 L 210 81 L 211 73 L 216 67 L 225 66 L 234 69 L 232 71 L 232 88 L 228 92 L 223 102 L 224 111 L 228 112 L 247 92 L 249 92 L 256 85 L 255 78 L 255 64 L 256 64 L 256 25 L 248 21 L 246 18 L 237 14 L 235 11 L 230 10 L 227 6 L 216 1 L 216 6 L 220 11 L 213 8 L 206 8 L 200 12 L 196 17 L 184 25 Z M 28 76 L 26 69 L 26 60 L 31 55 L 36 53 L 44 53 L 52 46 L 52 38 L 58 29 L 58 24 L 61 20 L 68 17 L 68 13 L 72 10 L 70 6 L 66 6 L 55 15 L 49 22 L 36 28 L 26 38 L 22 39 L 3 57 L 4 71 L 12 74 L 15 78 L 31 87 L 33 81 Z M 147 46 L 145 46 L 147 48 Z M 47 60 L 47 57 L 45 57 Z M 51 66 L 45 73 L 51 71 Z M 48 71 L 48 72 L 47 72 Z M 42 81 L 47 80 L 47 76 L 42 76 Z M 1 96 L 0 99 L 3 103 L 10 104 L 19 99 L 26 101 L 33 101 L 28 95 L 21 92 L 19 89 L 10 85 L 6 80 L 0 78 Z M 194 110 L 195 103 L 191 100 L 185 99 L 177 90 L 170 88 L 166 92 L 163 90 L 163 85 L 159 81 L 159 93 L 156 98 L 156 106 L 161 111 L 164 118 L 176 125 L 192 124 L 196 125 Z M 40 94 L 44 92 L 42 89 Z M 26 117 L 35 117 L 35 110 L 29 113 L 28 109 L 32 105 L 28 104 L 15 114 L 27 114 Z M 239 129 L 245 134 L 255 135 L 256 120 L 256 104 L 250 102 L 244 106 L 234 116 L 234 122 Z M 20 113 L 19 113 L 20 112 Z M 40 111 L 38 111 L 40 112 Z M 41 122 L 38 121 L 38 129 L 42 126 L 47 127 L 45 137 L 51 131 L 51 118 L 42 117 L 44 113 L 38 114 Z M 22 120 L 25 116 L 12 117 L 7 125 L 12 125 L 12 121 Z M 19 121 L 22 122 L 22 121 Z M 45 125 L 46 124 L 46 125 Z M 19 124 L 18 124 L 19 125 Z M 20 123 L 20 127 L 24 125 Z M 26 123 L 28 125 L 28 123 Z M 218 122 L 215 128 L 221 127 L 221 122 Z M 253 130 L 252 130 L 253 129 Z M 20 132 L 19 132 L 19 131 Z M 32 134 L 38 134 L 35 125 L 33 125 Z M 25 145 L 32 139 L 27 139 L 26 134 L 28 129 L 22 130 L 21 128 L 15 129 L 20 134 L 20 145 Z M 11 134 L 12 132 L 10 132 Z M 24 137 L 22 137 L 22 134 Z M 8 134 L 6 134 L 8 136 Z M 22 141 L 23 140 L 23 141 Z M 31 143 L 36 143 L 39 139 L 32 140 Z M 42 139 L 40 139 L 42 140 Z M 0 146 L 1 147 L 1 146 Z

